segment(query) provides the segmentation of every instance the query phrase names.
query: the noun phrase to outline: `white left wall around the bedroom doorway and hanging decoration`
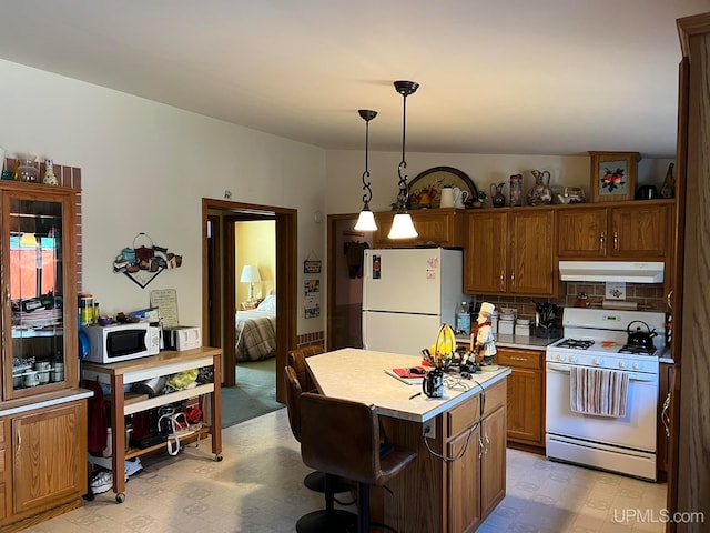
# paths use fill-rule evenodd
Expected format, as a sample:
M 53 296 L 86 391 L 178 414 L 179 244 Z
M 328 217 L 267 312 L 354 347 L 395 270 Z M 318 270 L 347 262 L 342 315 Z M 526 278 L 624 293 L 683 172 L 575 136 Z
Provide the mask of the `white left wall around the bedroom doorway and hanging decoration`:
M 298 210 L 298 255 L 325 257 L 325 152 L 118 91 L 0 60 L 0 145 L 82 169 L 83 288 L 102 311 L 178 290 L 180 321 L 202 323 L 202 198 Z M 112 263 L 139 232 L 183 255 L 145 289 Z M 303 286 L 303 269 L 300 283 Z M 300 290 L 300 308 L 303 291 Z M 298 318 L 298 333 L 324 329 Z

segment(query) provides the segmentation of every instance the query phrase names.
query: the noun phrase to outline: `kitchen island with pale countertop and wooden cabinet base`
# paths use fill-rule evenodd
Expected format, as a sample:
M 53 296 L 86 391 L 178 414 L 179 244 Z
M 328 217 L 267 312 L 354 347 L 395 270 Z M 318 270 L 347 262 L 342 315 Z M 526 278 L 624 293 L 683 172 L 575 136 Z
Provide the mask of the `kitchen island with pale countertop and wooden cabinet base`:
M 495 372 L 450 372 L 444 398 L 386 370 L 415 366 L 413 355 L 344 349 L 306 359 L 321 393 L 376 406 L 386 439 L 417 459 L 386 490 L 372 491 L 373 516 L 399 533 L 471 532 L 506 492 L 506 381 Z M 427 430 L 427 436 L 424 431 Z

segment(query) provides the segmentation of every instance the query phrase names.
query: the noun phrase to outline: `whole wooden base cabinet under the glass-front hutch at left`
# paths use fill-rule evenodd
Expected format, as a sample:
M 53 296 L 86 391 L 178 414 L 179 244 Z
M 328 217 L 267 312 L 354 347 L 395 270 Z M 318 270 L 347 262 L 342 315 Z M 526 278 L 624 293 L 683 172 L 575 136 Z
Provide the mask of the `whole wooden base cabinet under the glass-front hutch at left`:
M 87 402 L 0 419 L 0 531 L 18 531 L 81 506 L 87 492 Z

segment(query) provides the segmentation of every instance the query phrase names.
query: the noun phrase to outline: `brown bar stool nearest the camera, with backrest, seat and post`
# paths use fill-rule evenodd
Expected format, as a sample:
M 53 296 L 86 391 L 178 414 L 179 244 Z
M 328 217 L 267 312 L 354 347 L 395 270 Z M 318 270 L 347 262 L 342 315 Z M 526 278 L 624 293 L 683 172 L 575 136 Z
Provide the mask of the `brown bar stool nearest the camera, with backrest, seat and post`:
M 313 469 L 357 482 L 357 531 L 369 532 L 369 487 L 385 485 L 417 456 L 382 443 L 373 405 L 322 394 L 301 395 L 301 456 Z M 385 524 L 376 524 L 388 529 Z

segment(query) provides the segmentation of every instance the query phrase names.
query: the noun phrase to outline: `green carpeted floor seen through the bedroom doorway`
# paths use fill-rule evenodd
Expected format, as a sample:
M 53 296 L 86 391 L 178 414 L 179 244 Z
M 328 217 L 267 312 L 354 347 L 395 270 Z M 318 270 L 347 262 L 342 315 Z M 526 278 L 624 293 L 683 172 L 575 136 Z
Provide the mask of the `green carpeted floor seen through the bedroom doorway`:
M 276 358 L 236 364 L 236 386 L 222 389 L 222 428 L 285 405 L 276 401 Z

